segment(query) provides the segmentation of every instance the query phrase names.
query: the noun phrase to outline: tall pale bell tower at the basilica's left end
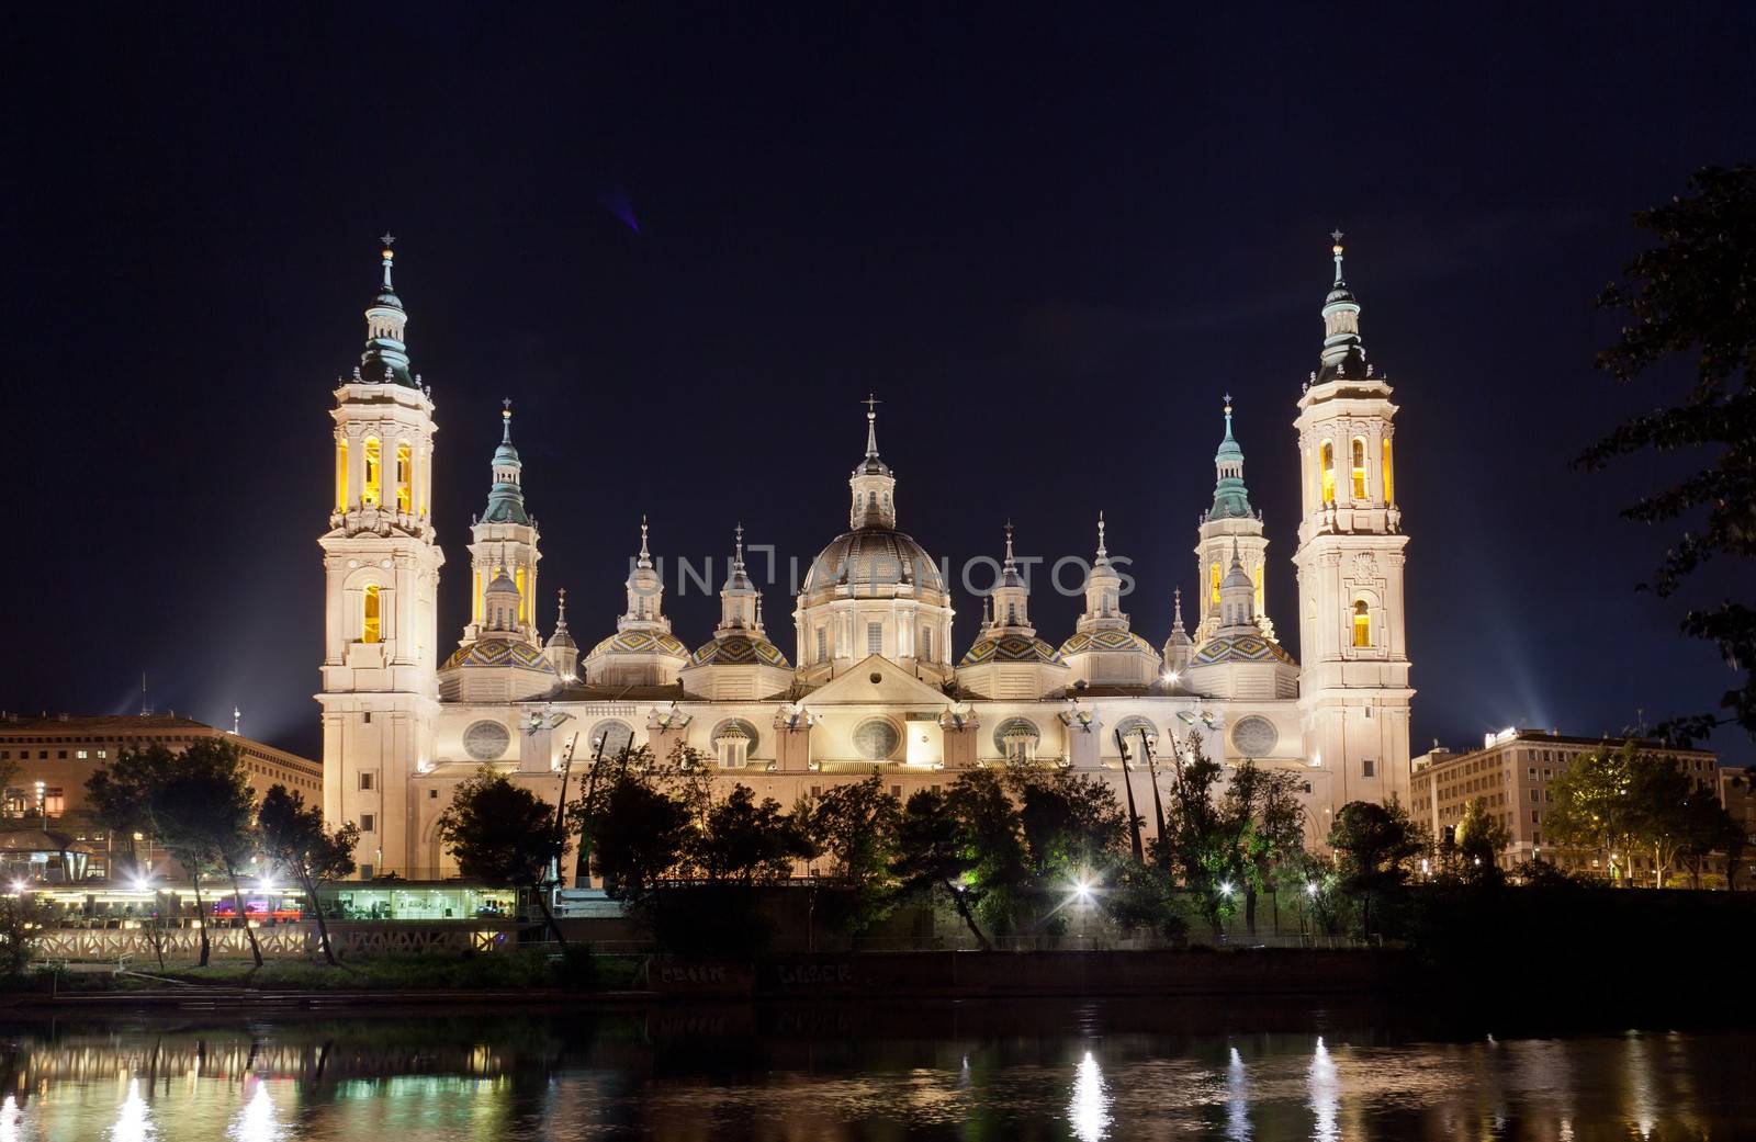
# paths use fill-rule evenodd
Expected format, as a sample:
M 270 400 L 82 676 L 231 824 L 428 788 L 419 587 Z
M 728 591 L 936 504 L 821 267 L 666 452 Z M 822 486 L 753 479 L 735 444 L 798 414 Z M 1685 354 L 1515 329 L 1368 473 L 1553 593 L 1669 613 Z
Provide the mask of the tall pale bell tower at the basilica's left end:
M 409 372 L 407 312 L 383 281 L 365 351 L 337 379 L 335 498 L 323 547 L 323 816 L 360 826 L 360 875 L 409 875 L 409 777 L 432 760 L 439 719 L 439 549 L 432 526 L 434 403 Z

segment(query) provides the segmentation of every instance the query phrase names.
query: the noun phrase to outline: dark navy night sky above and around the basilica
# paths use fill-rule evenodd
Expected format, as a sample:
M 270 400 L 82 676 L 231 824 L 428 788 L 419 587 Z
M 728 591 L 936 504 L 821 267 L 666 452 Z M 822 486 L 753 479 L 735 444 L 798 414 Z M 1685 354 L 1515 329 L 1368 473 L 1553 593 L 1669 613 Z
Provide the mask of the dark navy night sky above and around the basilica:
M 590 646 L 643 510 L 716 579 L 739 519 L 801 561 L 841 532 L 867 391 L 927 551 L 996 554 L 1010 516 L 1089 554 L 1103 509 L 1155 646 L 1231 391 L 1298 653 L 1335 226 L 1401 405 L 1415 751 L 1712 705 L 1684 600 L 1635 591 L 1666 535 L 1616 517 L 1673 468 L 1568 460 L 1679 391 L 1593 370 L 1591 300 L 1633 211 L 1756 156 L 1756 9 L 1212 7 L 12 12 L 0 707 L 130 712 L 146 670 L 156 709 L 314 754 L 328 410 L 386 228 L 441 426 L 441 654 L 502 396 L 544 632 L 565 586 Z M 697 644 L 716 600 L 667 609 Z M 1033 609 L 1061 640 L 1078 603 Z

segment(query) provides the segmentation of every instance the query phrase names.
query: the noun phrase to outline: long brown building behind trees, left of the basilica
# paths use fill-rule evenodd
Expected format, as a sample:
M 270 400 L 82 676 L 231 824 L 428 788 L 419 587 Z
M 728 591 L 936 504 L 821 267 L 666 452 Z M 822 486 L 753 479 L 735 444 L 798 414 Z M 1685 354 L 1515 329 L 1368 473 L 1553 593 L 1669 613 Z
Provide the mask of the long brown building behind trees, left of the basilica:
M 86 781 L 121 756 L 125 749 L 163 746 L 179 751 L 205 737 L 235 742 L 244 756 L 249 788 L 260 800 L 270 786 L 286 786 L 311 803 L 323 798 L 323 768 L 309 758 L 276 749 L 263 742 L 216 730 L 191 717 L 174 714 L 56 714 L 47 717 L 0 716 L 0 774 L 11 774 L 0 800 L 0 832 L 51 830 L 70 842 L 68 858 L 37 860 L 40 877 L 65 879 L 58 867 L 77 868 L 81 875 L 104 877 L 126 839 L 111 837 L 86 807 Z M 42 851 L 40 847 L 37 849 Z M 142 837 L 139 853 L 149 867 L 176 872 L 163 853 Z

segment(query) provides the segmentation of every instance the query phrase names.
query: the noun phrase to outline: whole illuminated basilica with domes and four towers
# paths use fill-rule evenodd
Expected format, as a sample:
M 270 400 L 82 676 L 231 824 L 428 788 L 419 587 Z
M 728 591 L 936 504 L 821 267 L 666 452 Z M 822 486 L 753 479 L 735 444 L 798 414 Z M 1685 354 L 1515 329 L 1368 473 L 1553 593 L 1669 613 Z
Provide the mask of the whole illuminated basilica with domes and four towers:
M 325 814 L 362 826 L 363 877 L 453 875 L 437 821 L 460 781 L 492 765 L 555 800 L 569 756 L 579 782 L 597 742 L 604 756 L 634 744 L 658 760 L 688 746 L 727 782 L 787 805 L 874 767 L 904 798 L 971 767 L 1071 767 L 1133 798 L 1148 835 L 1147 747 L 1162 779 L 1191 735 L 1227 763 L 1252 758 L 1296 770 L 1313 842 L 1345 802 L 1407 800 L 1414 691 L 1407 537 L 1391 460 L 1396 405 L 1366 361 L 1340 235 L 1333 256 L 1321 363 L 1294 421 L 1303 661 L 1278 642 L 1264 609 L 1268 537 L 1250 507 L 1229 400 L 1213 500 L 1196 533 L 1192 628 L 1178 593 L 1162 640 L 1136 632 L 1122 610 L 1126 581 L 1099 517 L 1085 609 L 1066 639 L 1057 644 L 1031 621 L 1029 577 L 1008 526 L 996 553 L 1001 574 L 980 600 L 980 632 L 959 654 L 946 568 L 901 530 L 904 496 L 867 405 L 846 528 L 792 600 L 790 639 L 764 617 L 741 530 L 725 537 L 730 570 L 718 625 L 701 640 L 674 632 L 662 560 L 651 551 L 657 535 L 643 521 L 627 609 L 613 632 L 579 632 L 590 646 L 581 653 L 564 591 L 546 637 L 539 628 L 541 535 L 509 409 L 460 575 L 469 623 L 455 649 L 441 646 L 434 402 L 409 365 L 386 237 L 365 351 L 339 381 L 332 410 L 335 507 L 320 539 L 325 653 L 316 695 Z

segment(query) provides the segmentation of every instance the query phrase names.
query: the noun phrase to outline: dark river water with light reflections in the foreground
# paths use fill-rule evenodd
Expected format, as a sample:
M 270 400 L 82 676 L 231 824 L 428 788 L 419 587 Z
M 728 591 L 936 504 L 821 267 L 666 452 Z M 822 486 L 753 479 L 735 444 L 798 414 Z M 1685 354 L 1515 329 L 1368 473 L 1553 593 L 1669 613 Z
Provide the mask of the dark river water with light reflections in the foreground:
M 1756 1033 L 1275 1000 L 0 1023 L 0 1142 L 1756 1137 Z

